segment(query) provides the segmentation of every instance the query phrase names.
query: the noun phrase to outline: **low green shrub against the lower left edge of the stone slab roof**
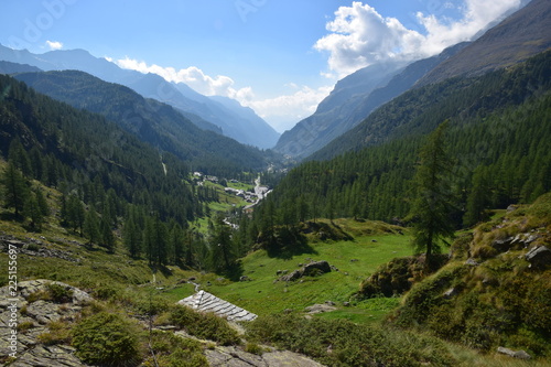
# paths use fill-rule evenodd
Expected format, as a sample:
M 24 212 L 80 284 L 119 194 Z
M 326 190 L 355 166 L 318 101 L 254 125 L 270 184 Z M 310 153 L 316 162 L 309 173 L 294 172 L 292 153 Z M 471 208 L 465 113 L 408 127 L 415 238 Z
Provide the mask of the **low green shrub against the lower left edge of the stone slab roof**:
M 215 314 L 198 313 L 185 306 L 174 306 L 170 312 L 171 323 L 185 328 L 191 335 L 222 345 L 241 344 L 237 332 L 225 320 Z

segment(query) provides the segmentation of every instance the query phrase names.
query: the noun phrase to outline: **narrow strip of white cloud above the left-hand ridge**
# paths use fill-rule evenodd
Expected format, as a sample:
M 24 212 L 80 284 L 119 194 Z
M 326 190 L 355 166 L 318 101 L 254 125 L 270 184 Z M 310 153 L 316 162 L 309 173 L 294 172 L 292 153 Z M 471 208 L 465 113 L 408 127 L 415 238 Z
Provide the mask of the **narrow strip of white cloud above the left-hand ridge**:
M 175 69 L 174 67 L 163 67 L 155 64 L 148 65 L 145 62 L 140 62 L 129 57 L 115 62 L 122 68 L 138 71 L 141 73 L 152 73 L 162 76 L 168 82 L 184 83 L 205 96 L 224 96 L 235 99 L 247 100 L 251 98 L 252 90 L 250 87 L 236 89 L 235 82 L 228 76 L 217 75 L 215 77 L 206 75 L 196 66 Z

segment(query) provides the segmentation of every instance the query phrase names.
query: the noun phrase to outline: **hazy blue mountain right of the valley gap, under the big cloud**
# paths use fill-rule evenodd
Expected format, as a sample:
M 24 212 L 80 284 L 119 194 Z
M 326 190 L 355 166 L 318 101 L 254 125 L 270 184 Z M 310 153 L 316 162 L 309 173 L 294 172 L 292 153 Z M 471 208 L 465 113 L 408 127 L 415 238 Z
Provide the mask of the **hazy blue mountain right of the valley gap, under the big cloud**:
M 366 96 L 385 86 L 403 66 L 398 62 L 374 64 L 339 80 L 314 115 L 285 131 L 274 149 L 283 154 L 304 158 L 323 148 L 365 118 L 354 120 L 349 117 Z

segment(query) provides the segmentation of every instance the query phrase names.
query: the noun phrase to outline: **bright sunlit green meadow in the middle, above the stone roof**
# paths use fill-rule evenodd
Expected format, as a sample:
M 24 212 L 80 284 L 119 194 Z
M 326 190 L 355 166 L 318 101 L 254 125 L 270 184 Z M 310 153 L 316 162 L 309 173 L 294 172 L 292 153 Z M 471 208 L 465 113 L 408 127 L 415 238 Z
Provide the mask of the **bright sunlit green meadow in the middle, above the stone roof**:
M 343 219 L 344 220 L 344 219 Z M 346 231 L 353 220 L 341 222 Z M 356 229 L 359 229 L 356 228 Z M 372 273 L 381 263 L 396 257 L 411 255 L 408 235 L 378 235 L 357 237 L 354 241 L 317 242 L 312 245 L 312 253 L 294 256 L 290 259 L 268 257 L 264 250 L 250 253 L 242 260 L 244 276 L 250 281 L 229 282 L 209 279 L 210 287 L 206 287 L 207 279 L 199 282 L 203 289 L 233 302 L 259 315 L 279 313 L 285 310 L 303 311 L 304 307 L 332 301 L 338 310 L 332 315 L 323 317 L 343 317 L 355 322 L 374 322 L 380 320 L 388 311 L 385 307 L 344 306 L 350 296 L 358 290 L 359 283 Z M 293 271 L 300 269 L 311 260 L 326 260 L 338 271 L 332 271 L 320 277 L 306 277 L 302 281 L 277 281 L 278 271 Z M 187 287 L 180 287 L 166 292 L 173 300 L 181 300 L 193 294 Z

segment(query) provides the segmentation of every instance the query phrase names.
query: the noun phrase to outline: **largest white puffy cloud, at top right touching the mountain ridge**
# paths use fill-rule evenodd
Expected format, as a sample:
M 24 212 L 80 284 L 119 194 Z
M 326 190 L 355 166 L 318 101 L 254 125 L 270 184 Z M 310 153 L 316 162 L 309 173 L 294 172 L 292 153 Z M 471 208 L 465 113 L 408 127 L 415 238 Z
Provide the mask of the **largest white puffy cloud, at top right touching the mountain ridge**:
M 404 26 L 396 18 L 383 18 L 369 4 L 355 1 L 341 7 L 327 22 L 329 34 L 314 47 L 328 52 L 328 68 L 343 77 L 361 67 L 390 58 L 418 60 L 440 53 L 447 46 L 471 40 L 521 0 L 464 0 L 457 8 L 461 18 L 451 20 L 434 13 L 418 12 L 419 30 Z M 453 7 L 444 3 L 443 9 Z

